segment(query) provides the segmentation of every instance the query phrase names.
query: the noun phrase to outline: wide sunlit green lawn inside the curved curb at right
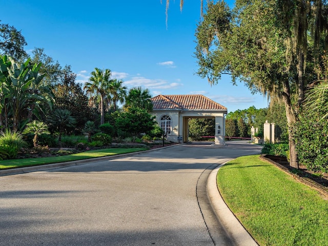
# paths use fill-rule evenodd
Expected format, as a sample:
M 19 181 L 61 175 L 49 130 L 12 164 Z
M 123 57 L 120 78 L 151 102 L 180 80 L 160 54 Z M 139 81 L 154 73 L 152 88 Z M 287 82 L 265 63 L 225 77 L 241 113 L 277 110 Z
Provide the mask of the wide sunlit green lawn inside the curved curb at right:
M 219 191 L 260 245 L 328 245 L 328 201 L 258 156 L 228 162 Z

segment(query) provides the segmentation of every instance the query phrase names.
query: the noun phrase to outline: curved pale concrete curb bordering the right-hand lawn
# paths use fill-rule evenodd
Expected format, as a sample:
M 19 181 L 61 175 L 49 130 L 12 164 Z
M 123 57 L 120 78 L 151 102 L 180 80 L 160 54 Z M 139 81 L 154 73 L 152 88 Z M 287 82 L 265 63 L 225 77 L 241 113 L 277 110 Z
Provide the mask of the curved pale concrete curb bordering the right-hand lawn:
M 222 165 L 224 165 L 223 163 Z M 207 191 L 214 213 L 222 226 L 226 229 L 228 235 L 240 246 L 258 246 L 253 237 L 246 231 L 239 220 L 228 208 L 226 202 L 222 199 L 216 184 L 216 176 L 220 167 L 215 168 L 207 180 Z

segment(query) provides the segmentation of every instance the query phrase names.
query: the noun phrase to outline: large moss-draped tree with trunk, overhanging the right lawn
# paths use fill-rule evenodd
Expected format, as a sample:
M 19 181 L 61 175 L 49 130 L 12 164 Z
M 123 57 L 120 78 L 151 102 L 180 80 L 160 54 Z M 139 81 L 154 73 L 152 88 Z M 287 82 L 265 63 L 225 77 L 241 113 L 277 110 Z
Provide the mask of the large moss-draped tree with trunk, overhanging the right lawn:
M 328 48 L 326 1 L 208 2 L 196 30 L 198 74 L 217 84 L 223 73 L 253 92 L 283 101 L 289 126 L 290 165 L 298 168 L 293 125 L 304 91 L 318 76 Z

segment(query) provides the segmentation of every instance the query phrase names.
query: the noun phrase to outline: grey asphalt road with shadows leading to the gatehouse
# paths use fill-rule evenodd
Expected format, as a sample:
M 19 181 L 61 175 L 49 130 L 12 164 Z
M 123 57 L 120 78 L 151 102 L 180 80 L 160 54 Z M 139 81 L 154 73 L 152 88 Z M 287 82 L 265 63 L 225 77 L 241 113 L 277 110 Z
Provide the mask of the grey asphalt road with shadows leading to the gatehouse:
M 211 210 L 210 172 L 260 148 L 193 143 L 0 177 L 0 245 L 235 245 Z

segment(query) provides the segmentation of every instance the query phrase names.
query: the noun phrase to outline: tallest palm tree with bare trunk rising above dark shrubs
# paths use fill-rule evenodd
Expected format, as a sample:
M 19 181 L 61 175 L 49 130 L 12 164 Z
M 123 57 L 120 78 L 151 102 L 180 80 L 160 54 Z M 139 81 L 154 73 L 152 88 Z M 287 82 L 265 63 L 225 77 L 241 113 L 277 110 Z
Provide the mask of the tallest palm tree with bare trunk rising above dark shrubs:
M 105 103 L 110 102 L 109 88 L 111 84 L 110 76 L 112 72 L 110 69 L 95 68 L 91 72 L 90 81 L 84 86 L 84 90 L 87 94 L 91 95 L 91 98 L 100 97 L 100 125 L 105 122 Z

